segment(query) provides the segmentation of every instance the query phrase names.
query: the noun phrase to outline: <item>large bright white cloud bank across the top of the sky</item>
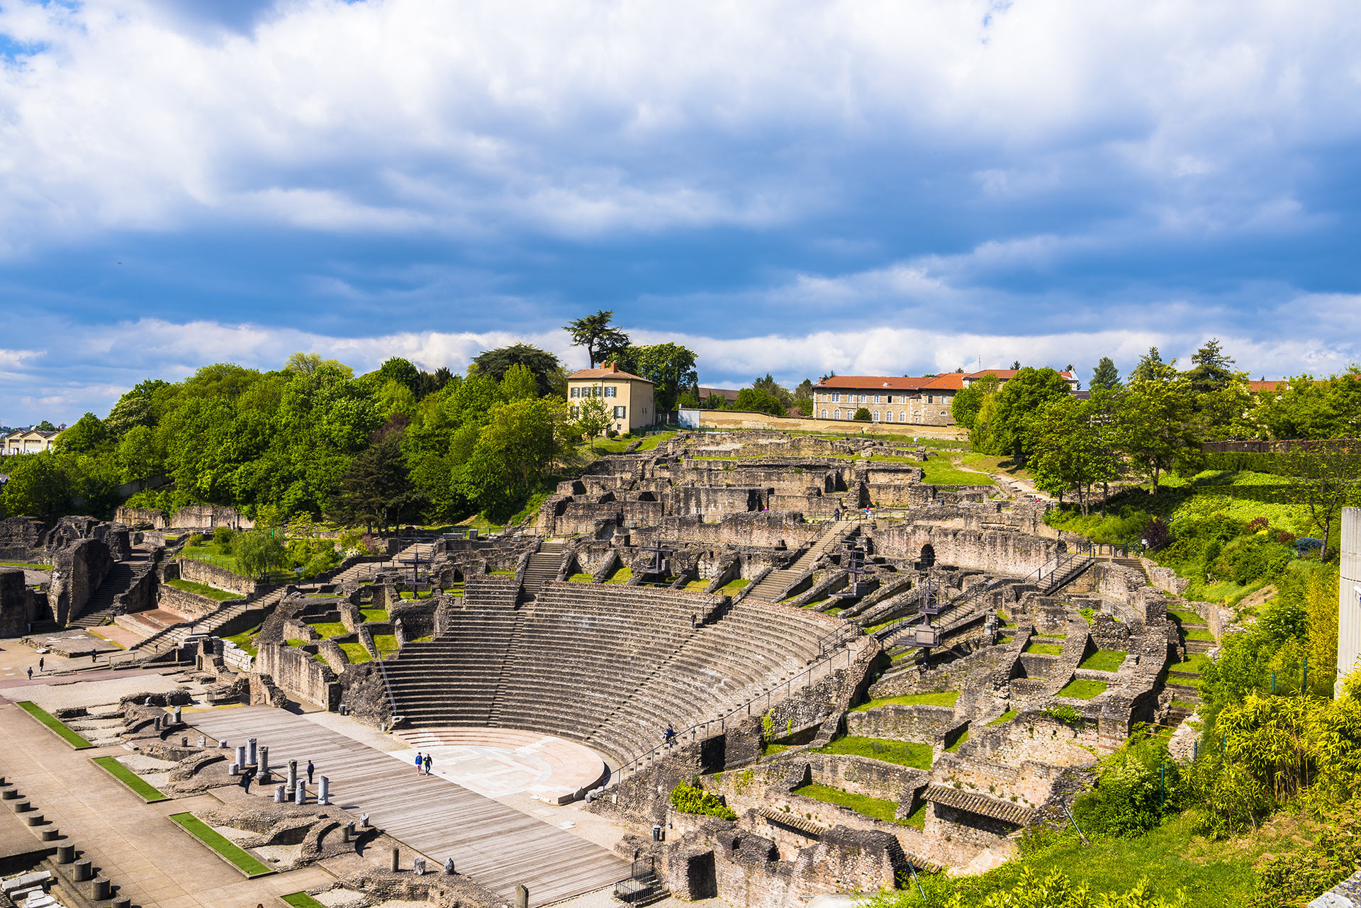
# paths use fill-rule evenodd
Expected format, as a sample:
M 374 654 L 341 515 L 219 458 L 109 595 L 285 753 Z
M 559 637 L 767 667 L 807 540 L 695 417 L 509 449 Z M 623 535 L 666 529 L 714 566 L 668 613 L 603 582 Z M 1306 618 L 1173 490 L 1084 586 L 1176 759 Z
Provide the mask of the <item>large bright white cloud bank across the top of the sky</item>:
M 1354 140 L 1357 23 L 1345 0 L 295 0 L 237 34 L 147 0 L 7 3 L 0 33 L 41 49 L 0 71 L 0 244 L 223 216 L 759 227 L 920 150 L 989 161 L 1000 197 L 1117 169 L 1217 208 L 1206 181 Z M 1200 216 L 1293 216 L 1263 208 L 1289 167 L 1262 173 Z

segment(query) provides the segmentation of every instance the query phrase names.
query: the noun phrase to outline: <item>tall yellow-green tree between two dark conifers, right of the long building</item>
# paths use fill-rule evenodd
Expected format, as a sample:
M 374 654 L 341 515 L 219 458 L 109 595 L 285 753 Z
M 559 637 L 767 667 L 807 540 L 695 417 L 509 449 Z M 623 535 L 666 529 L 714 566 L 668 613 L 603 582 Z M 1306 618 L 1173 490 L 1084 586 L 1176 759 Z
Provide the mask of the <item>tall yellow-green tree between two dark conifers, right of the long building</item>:
M 1155 353 L 1155 351 L 1154 351 Z M 1135 370 L 1119 408 L 1120 445 L 1158 493 L 1158 476 L 1195 448 L 1191 393 L 1176 365 Z

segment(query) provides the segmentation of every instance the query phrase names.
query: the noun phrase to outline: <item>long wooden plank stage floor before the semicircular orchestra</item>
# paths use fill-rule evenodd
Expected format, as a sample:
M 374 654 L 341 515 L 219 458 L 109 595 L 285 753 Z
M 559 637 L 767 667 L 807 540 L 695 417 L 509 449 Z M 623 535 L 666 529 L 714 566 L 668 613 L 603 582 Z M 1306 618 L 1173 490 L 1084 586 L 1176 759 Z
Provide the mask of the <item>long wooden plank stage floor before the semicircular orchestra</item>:
M 528 886 L 531 905 L 544 905 L 629 875 L 629 863 L 600 845 L 448 779 L 418 775 L 414 750 L 403 742 L 369 730 L 365 738 L 373 743 L 363 743 L 328 728 L 332 720 L 271 707 L 185 713 L 185 721 L 233 747 L 256 738 L 269 747 L 271 766 L 297 760 L 301 769 L 312 760 L 317 776 L 331 780 L 333 803 L 367 813 L 374 825 L 440 863 L 453 858 L 459 873 L 508 900 L 517 883 Z

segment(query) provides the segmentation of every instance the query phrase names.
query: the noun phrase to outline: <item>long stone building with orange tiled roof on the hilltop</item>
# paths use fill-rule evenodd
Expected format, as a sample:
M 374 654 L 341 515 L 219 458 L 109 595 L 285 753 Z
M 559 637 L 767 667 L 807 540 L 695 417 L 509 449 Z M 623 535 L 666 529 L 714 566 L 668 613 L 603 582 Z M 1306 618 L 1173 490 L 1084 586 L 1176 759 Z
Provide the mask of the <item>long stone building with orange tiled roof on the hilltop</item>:
M 996 376 L 1002 384 L 1015 377 L 1017 369 L 981 372 L 947 372 L 943 376 L 833 376 L 813 387 L 815 419 L 852 419 L 864 407 L 872 422 L 906 422 L 924 426 L 947 426 L 954 422 L 950 404 L 960 393 L 984 376 Z M 1068 370 L 1059 373 L 1072 391 L 1078 378 Z

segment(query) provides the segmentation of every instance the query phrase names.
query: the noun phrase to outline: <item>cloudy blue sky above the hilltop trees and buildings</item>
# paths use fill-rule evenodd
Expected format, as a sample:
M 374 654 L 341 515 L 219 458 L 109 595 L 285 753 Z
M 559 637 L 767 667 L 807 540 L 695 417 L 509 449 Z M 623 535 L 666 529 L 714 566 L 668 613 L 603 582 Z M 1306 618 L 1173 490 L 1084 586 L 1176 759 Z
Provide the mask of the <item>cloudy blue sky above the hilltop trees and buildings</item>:
M 1361 361 L 1349 0 L 0 0 L 0 425 L 612 309 L 740 387 Z

